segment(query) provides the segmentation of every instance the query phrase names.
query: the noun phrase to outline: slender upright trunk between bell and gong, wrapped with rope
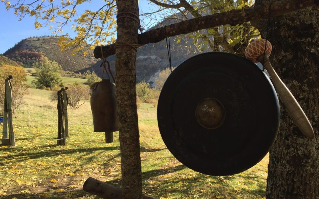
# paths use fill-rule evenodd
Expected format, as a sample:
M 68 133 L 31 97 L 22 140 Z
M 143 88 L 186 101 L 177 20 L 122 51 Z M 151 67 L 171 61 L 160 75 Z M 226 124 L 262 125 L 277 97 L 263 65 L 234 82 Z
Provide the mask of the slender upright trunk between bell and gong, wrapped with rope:
M 117 0 L 117 46 L 115 52 L 115 84 L 120 131 L 123 198 L 142 198 L 142 171 L 136 107 L 137 0 Z M 134 20 L 135 18 L 136 20 Z M 125 44 L 126 43 L 126 44 Z

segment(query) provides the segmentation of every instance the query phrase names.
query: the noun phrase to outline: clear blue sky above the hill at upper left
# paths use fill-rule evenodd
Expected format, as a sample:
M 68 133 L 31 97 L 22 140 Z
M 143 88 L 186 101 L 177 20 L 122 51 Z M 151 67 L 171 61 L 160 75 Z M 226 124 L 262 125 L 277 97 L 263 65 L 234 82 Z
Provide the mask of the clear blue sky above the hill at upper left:
M 15 0 L 11 1 L 13 4 Z M 78 8 L 78 11 L 89 9 L 96 10 L 101 5 L 102 1 L 94 0 L 91 4 L 84 4 Z M 147 0 L 139 1 L 140 11 L 147 12 L 152 9 L 152 5 L 148 4 Z M 41 28 L 40 30 L 34 29 L 34 18 L 25 17 L 21 21 L 14 15 L 14 10 L 6 11 L 3 2 L 0 2 L 0 53 L 4 53 L 9 48 L 13 47 L 16 43 L 33 36 L 52 35 L 52 31 L 48 27 Z M 70 27 L 70 26 L 69 26 Z M 71 37 L 74 36 L 73 30 L 69 28 L 63 29 L 63 34 L 69 33 Z

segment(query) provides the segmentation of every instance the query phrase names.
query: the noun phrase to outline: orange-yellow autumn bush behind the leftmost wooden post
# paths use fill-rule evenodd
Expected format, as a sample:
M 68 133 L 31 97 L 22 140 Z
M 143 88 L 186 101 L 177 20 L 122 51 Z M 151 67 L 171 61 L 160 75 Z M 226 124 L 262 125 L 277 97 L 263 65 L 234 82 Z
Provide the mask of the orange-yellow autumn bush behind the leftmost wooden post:
M 13 76 L 12 82 L 12 113 L 23 103 L 23 94 L 26 90 L 26 73 L 20 66 L 3 65 L 0 67 L 0 108 L 4 106 L 4 80 Z

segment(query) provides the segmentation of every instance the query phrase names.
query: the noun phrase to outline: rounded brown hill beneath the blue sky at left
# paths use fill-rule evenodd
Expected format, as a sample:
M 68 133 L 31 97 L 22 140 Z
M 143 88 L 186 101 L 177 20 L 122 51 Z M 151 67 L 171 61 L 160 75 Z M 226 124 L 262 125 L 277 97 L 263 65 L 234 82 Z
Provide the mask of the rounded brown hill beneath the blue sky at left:
M 63 70 L 78 72 L 79 70 L 93 66 L 97 59 L 93 56 L 83 56 L 80 52 L 72 56 L 71 50 L 61 52 L 57 41 L 59 37 L 35 37 L 21 40 L 18 44 L 8 49 L 4 55 L 11 60 L 19 62 L 25 68 L 31 68 L 32 64 L 41 61 L 41 55 L 49 60 L 58 62 Z M 90 54 L 93 55 L 93 52 Z

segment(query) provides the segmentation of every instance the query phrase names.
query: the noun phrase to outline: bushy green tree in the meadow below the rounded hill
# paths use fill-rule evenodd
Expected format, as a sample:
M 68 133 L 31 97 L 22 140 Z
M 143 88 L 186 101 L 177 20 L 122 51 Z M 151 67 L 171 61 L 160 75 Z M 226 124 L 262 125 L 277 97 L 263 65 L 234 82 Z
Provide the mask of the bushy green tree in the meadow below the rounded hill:
M 51 61 L 47 57 L 41 57 L 41 63 L 37 63 L 34 65 L 36 69 L 37 77 L 32 81 L 32 84 L 35 88 L 42 89 L 52 88 L 55 85 L 63 87 L 63 83 L 61 80 L 60 69 L 61 65 L 59 65 L 56 61 Z

